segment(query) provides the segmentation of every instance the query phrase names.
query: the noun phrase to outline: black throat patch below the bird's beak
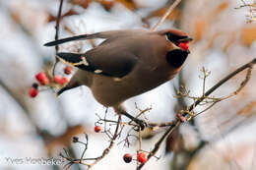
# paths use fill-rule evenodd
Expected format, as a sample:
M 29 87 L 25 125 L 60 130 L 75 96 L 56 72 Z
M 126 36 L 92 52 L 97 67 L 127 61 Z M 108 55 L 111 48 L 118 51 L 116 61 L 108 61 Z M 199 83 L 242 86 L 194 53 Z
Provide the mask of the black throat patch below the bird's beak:
M 167 62 L 174 68 L 179 68 L 187 59 L 188 52 L 180 49 L 174 49 L 166 54 Z

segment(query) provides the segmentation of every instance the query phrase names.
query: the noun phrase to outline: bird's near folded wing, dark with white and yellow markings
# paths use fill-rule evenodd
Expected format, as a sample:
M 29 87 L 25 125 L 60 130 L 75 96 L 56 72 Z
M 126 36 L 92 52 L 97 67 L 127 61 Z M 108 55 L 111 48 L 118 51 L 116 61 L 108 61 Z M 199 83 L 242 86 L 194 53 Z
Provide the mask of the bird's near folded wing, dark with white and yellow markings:
M 113 54 L 102 51 L 100 55 L 75 53 L 58 53 L 57 57 L 64 63 L 79 69 L 107 77 L 122 78 L 135 67 L 138 58 L 132 54 Z

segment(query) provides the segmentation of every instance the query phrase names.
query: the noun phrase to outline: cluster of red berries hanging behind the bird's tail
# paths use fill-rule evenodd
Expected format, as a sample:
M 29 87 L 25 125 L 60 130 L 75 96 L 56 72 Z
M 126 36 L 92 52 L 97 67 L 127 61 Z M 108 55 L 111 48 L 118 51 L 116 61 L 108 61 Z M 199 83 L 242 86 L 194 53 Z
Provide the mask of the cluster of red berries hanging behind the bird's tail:
M 66 66 L 63 70 L 66 75 L 70 75 L 72 73 L 72 68 Z M 69 79 L 65 76 L 51 76 L 46 74 L 45 72 L 39 72 L 35 76 L 35 80 L 37 83 L 32 84 L 29 94 L 33 98 L 38 94 L 39 86 L 48 86 L 48 87 L 62 87 L 69 83 Z

